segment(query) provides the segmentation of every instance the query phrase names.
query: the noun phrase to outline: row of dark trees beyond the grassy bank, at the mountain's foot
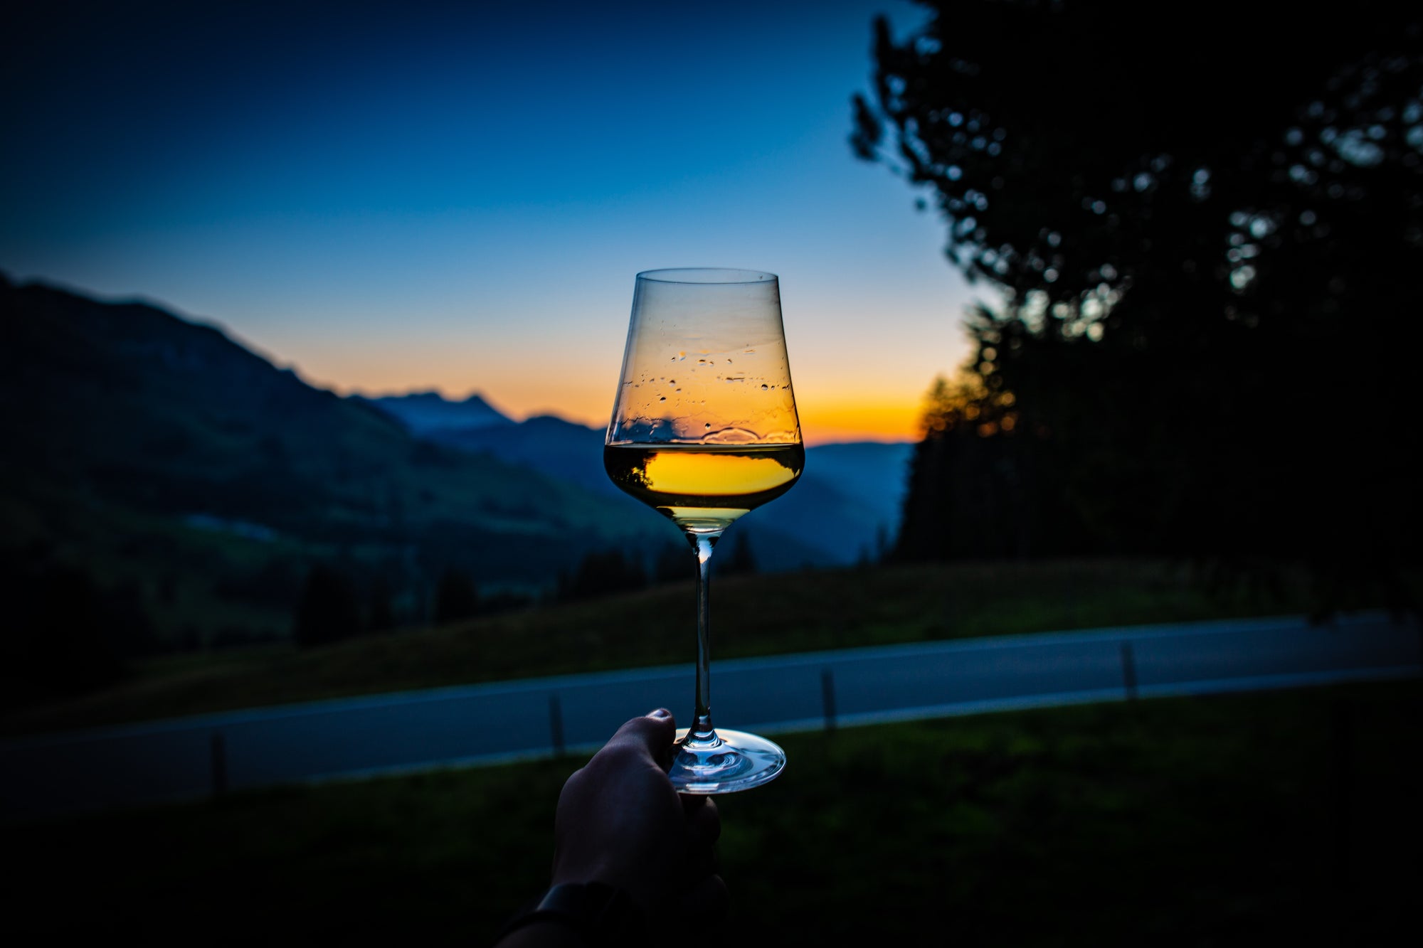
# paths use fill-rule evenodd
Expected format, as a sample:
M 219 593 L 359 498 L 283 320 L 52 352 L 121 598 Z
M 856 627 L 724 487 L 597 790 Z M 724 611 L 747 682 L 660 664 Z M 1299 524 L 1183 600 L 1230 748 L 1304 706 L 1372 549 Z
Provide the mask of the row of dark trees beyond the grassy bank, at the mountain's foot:
M 694 557 L 684 544 L 667 544 L 646 562 L 620 549 L 588 552 L 565 571 L 542 599 L 581 601 L 690 581 Z M 713 559 L 719 575 L 756 572 L 746 535 L 729 539 Z M 470 571 L 447 567 L 433 582 L 408 576 L 393 585 L 373 564 L 322 561 L 305 578 L 293 564 L 269 562 L 243 578 L 228 578 L 221 594 L 242 602 L 290 609 L 290 639 L 317 648 L 364 635 L 444 625 L 538 605 L 539 596 L 481 589 Z M 81 695 L 125 678 L 135 659 L 162 652 L 221 649 L 283 641 L 280 631 L 219 622 L 212 635 L 196 629 L 166 641 L 149 609 L 172 609 L 181 595 L 171 579 L 112 582 L 43 544 L 0 551 L 0 595 L 7 622 L 0 636 L 0 707 L 17 707 Z M 285 605 L 283 605 L 285 604 Z

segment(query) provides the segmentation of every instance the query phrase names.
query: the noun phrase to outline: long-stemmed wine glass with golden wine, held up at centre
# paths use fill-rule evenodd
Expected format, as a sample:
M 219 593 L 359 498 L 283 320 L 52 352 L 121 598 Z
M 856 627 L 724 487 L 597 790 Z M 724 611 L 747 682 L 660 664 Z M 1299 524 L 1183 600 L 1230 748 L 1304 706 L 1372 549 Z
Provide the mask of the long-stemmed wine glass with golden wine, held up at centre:
M 712 727 L 707 579 L 726 528 L 804 465 L 776 275 L 639 273 L 603 468 L 680 527 L 697 558 L 696 712 L 667 774 L 683 793 L 747 790 L 785 767 L 773 742 Z

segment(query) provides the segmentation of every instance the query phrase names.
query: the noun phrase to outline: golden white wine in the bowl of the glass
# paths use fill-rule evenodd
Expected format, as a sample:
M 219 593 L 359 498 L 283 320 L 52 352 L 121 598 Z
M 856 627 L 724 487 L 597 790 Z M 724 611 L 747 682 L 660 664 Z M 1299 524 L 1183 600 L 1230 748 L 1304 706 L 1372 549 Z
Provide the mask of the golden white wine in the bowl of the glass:
M 726 530 L 791 488 L 805 467 L 800 444 L 609 444 L 613 484 L 692 531 Z

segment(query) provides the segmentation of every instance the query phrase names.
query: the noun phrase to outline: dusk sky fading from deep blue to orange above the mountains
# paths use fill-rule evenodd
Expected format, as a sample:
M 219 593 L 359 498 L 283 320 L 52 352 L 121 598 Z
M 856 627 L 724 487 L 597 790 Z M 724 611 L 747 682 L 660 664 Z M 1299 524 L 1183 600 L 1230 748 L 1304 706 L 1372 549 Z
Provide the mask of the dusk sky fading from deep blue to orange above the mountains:
M 639 270 L 777 273 L 808 443 L 912 438 L 968 354 L 945 231 L 857 161 L 885 0 L 23 14 L 0 270 L 141 297 L 342 393 L 605 426 Z

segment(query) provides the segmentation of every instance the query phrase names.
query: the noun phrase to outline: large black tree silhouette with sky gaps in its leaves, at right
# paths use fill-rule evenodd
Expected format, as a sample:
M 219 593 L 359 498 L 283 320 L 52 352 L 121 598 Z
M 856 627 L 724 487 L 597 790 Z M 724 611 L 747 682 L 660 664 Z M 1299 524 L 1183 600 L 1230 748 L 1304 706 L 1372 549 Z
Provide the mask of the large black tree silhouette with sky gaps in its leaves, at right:
M 1123 0 L 931 6 L 878 21 L 851 141 L 1002 303 L 926 416 L 899 555 L 1416 559 L 1416 7 L 1207 0 L 1165 37 Z

